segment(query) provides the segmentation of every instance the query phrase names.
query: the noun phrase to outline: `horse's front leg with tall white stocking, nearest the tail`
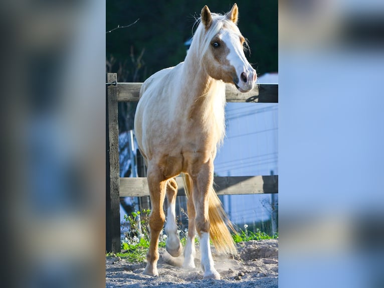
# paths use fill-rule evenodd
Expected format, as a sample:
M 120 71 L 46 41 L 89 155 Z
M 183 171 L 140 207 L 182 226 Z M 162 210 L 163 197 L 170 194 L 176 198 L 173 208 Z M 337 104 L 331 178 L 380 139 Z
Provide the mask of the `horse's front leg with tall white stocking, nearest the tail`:
M 200 236 L 201 266 L 204 278 L 220 279 L 220 274 L 214 267 L 210 245 L 210 220 L 208 215 L 209 193 L 214 179 L 213 160 L 204 164 L 196 177 L 193 177 L 193 199 L 196 209 L 196 230 Z

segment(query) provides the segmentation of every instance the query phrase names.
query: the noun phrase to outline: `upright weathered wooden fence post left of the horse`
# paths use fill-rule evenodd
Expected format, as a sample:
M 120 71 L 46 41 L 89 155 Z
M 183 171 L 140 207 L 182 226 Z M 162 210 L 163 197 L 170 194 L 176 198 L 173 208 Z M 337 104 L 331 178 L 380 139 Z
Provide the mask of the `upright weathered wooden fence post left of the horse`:
M 119 128 L 117 74 L 106 75 L 106 251 L 120 252 Z

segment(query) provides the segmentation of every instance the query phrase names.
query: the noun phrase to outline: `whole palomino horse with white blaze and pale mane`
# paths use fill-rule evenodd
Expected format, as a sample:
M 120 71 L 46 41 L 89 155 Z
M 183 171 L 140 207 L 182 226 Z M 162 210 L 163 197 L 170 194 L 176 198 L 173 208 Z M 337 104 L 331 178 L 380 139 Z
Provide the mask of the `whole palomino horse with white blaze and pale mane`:
M 248 63 L 236 23 L 235 4 L 226 15 L 202 10 L 185 61 L 149 77 L 140 90 L 135 133 L 148 171 L 152 211 L 150 246 L 144 274 L 156 276 L 158 238 L 165 222 L 163 202 L 168 201 L 166 250 L 173 257 L 182 252 L 175 222 L 180 173 L 188 196 L 188 237 L 183 268 L 195 268 L 195 231 L 200 236 L 204 278 L 220 279 L 214 267 L 210 237 L 219 252 L 236 252 L 226 226 L 226 215 L 213 190 L 214 159 L 225 133 L 225 83 L 239 91 L 251 90 L 256 71 Z

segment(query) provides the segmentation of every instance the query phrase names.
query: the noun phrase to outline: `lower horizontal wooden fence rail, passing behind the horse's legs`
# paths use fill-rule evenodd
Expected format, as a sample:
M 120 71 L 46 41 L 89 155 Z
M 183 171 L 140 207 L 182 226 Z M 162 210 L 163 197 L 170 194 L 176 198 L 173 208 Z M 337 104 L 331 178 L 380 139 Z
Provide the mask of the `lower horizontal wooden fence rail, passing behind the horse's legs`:
M 215 177 L 215 189 L 218 195 L 236 194 L 273 194 L 278 193 L 279 177 L 274 176 L 238 176 Z M 178 196 L 185 196 L 181 177 L 176 177 Z M 145 177 L 120 178 L 120 197 L 148 196 L 148 184 Z

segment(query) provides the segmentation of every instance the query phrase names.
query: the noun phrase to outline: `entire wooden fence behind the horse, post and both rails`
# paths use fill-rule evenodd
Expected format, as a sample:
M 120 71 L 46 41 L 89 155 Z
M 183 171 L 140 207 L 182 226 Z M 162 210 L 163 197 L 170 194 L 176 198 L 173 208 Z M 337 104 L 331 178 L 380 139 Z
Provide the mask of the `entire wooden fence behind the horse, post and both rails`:
M 116 73 L 106 75 L 106 251 L 120 251 L 120 200 L 125 196 L 149 196 L 145 178 L 119 177 L 119 129 L 117 103 L 138 101 L 142 83 L 117 83 Z M 260 84 L 248 93 L 226 86 L 227 102 L 278 103 L 278 85 Z M 177 195 L 185 195 L 177 179 Z M 278 193 L 278 176 L 215 177 L 218 195 Z

